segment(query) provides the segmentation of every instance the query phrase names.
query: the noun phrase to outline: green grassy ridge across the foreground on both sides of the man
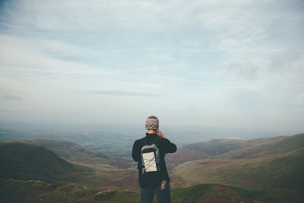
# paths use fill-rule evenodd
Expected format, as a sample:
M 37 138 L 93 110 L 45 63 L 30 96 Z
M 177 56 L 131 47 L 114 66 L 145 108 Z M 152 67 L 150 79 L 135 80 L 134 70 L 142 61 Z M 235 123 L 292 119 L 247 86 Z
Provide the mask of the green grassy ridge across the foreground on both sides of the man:
M 76 184 L 45 184 L 40 181 L 0 180 L 1 202 L 139 202 L 140 194 L 131 191 L 97 192 Z M 172 202 L 301 202 L 298 190 L 247 191 L 238 187 L 200 184 L 171 190 Z M 156 197 L 154 197 L 154 201 Z

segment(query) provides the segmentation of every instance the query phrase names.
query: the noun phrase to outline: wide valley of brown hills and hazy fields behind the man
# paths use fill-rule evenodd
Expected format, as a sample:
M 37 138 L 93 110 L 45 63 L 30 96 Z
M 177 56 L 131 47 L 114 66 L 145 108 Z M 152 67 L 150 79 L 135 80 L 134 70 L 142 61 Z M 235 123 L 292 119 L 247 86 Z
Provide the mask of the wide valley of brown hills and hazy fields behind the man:
M 0 142 L 2 179 L 139 192 L 138 170 L 130 156 L 134 137 L 122 138 L 117 132 L 42 130 L 2 130 L 0 135 L 7 140 Z M 9 140 L 12 138 L 16 139 Z M 304 190 L 304 134 L 190 143 L 168 154 L 166 163 L 172 191 L 219 184 L 248 191 L 297 193 Z

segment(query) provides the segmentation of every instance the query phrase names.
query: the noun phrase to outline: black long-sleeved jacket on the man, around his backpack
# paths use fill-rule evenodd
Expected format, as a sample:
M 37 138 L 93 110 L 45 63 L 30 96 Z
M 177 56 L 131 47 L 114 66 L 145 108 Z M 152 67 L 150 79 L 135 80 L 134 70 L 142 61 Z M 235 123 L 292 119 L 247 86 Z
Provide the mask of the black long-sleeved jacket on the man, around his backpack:
M 158 137 L 156 133 L 153 134 L 146 133 L 146 138 L 148 136 Z M 167 180 L 167 182 L 170 182 L 164 157 L 168 153 L 176 152 L 176 145 L 171 143 L 167 138 L 159 138 L 157 143 L 158 143 L 158 150 L 161 160 L 160 163 L 161 170 L 157 171 L 156 173 L 155 172 L 145 173 L 145 175 L 143 175 L 142 173 L 143 164 L 141 160 L 141 148 L 143 147 L 143 141 L 139 139 L 136 140 L 133 144 L 132 157 L 134 161 L 138 162 L 137 164 L 137 168 L 139 172 L 138 180 L 139 180 L 139 185 L 142 188 L 161 186 L 161 182 L 163 180 Z

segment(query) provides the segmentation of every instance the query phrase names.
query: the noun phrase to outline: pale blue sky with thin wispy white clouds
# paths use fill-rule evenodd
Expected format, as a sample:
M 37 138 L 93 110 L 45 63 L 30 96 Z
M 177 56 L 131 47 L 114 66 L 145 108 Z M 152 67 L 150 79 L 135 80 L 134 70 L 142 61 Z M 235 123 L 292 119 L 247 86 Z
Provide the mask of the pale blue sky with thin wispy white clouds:
M 0 1 L 0 120 L 304 131 L 302 0 Z

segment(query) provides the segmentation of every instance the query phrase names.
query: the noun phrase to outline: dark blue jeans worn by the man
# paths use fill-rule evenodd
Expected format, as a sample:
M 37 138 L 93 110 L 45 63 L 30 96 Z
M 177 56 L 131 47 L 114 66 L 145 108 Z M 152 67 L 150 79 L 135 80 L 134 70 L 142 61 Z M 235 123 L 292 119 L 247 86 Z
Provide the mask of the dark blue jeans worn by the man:
M 169 183 L 167 183 L 165 189 L 159 187 L 153 187 L 150 189 L 140 188 L 140 203 L 151 203 L 156 194 L 158 203 L 171 202 Z

